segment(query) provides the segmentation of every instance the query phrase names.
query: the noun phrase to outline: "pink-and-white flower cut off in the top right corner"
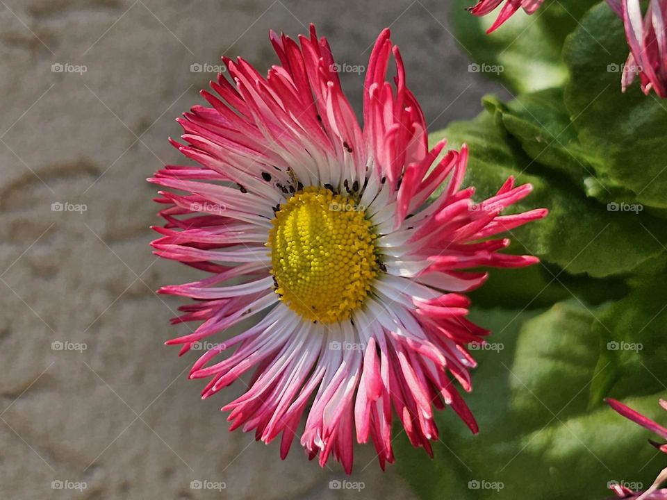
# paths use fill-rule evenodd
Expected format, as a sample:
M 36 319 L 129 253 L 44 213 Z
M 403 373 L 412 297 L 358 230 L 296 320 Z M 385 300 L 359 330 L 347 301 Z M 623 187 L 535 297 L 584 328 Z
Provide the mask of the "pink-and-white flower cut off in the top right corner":
M 621 76 L 623 92 L 639 75 L 641 90 L 667 97 L 667 0 L 650 0 L 645 15 L 639 0 L 607 0 L 623 19 L 630 47 Z

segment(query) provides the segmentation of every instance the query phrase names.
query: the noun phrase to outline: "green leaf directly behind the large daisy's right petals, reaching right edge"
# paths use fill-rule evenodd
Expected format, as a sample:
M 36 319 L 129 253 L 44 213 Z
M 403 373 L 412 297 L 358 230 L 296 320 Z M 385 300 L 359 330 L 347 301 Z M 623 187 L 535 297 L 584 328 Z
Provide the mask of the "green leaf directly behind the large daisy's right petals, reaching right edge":
M 518 184 L 531 183 L 534 191 L 509 213 L 545 207 L 546 219 L 509 233 L 517 251 L 526 249 L 545 263 L 570 274 L 593 277 L 629 274 L 635 269 L 664 267 L 667 228 L 647 213 L 613 211 L 614 207 L 586 198 L 561 176 L 534 162 L 499 124 L 497 113 L 482 113 L 470 122 L 454 122 L 434 133 L 431 142 L 446 137 L 450 147 L 470 147 L 464 185 L 475 186 L 477 199 L 493 196 L 502 183 L 515 176 Z M 531 172 L 527 168 L 532 167 Z M 558 274 L 552 276 L 561 281 Z M 562 285 L 561 281 L 561 285 Z

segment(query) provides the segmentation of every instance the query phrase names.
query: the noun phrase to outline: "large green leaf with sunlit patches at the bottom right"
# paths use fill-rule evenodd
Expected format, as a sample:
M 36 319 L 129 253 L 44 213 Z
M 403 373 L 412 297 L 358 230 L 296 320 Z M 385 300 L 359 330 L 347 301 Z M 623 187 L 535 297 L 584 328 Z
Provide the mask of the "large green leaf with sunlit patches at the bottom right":
M 559 303 L 539 315 L 473 311 L 472 319 L 495 331 L 489 341 L 496 346 L 476 356 L 474 390 L 466 395 L 480 432 L 470 435 L 443 412 L 436 460 L 397 437 L 399 471 L 420 498 L 602 499 L 609 481 L 652 482 L 662 465 L 651 462 L 650 433 L 602 400 L 588 407 L 601 349 L 593 325 L 601 311 L 580 303 Z M 661 395 L 625 403 L 665 422 Z M 482 481 L 497 490 L 475 489 Z

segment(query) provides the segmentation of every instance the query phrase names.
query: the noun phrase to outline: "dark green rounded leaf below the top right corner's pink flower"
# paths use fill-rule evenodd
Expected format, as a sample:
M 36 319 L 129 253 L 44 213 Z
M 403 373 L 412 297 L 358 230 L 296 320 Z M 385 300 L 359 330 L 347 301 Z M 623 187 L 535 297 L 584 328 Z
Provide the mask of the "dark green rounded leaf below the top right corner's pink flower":
M 597 158 L 600 178 L 640 203 L 667 208 L 667 102 L 645 96 L 638 83 L 620 92 L 618 68 L 629 49 L 611 9 L 601 4 L 581 23 L 563 48 L 571 74 L 565 103 L 579 140 Z

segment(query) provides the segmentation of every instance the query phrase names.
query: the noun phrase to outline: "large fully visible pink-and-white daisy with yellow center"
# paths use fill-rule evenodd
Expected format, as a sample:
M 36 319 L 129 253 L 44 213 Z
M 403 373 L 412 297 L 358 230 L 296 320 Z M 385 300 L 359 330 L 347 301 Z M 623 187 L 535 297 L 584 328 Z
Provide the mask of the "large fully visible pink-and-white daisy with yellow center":
M 168 188 L 156 199 L 167 221 L 156 228 L 156 255 L 210 274 L 160 290 L 196 301 L 173 323 L 201 322 L 167 344 L 183 354 L 220 339 L 190 372 L 210 378 L 204 398 L 252 370 L 245 394 L 222 410 L 231 429 L 257 440 L 281 434 L 282 458 L 304 416 L 309 458 L 323 466 L 334 456 L 348 473 L 353 433 L 372 440 L 381 467 L 393 462 L 393 415 L 428 453 L 434 408 L 450 406 L 477 432 L 455 382 L 470 391 L 466 347 L 488 332 L 466 319 L 460 292 L 486 274 L 463 269 L 536 263 L 499 253 L 509 240 L 489 237 L 546 210 L 500 215 L 532 190 L 513 178 L 473 203 L 473 188 L 461 189 L 468 150 L 444 153 L 445 141 L 428 149 L 388 30 L 368 63 L 363 129 L 315 28 L 300 45 L 273 32 L 270 40 L 281 65 L 263 77 L 223 58 L 233 84 L 220 75 L 217 96 L 201 92 L 211 107 L 178 120 L 186 144 L 172 144 L 197 165 L 167 165 L 149 179 Z M 395 88 L 386 81 L 392 55 Z M 232 326 L 245 330 L 220 335 Z

